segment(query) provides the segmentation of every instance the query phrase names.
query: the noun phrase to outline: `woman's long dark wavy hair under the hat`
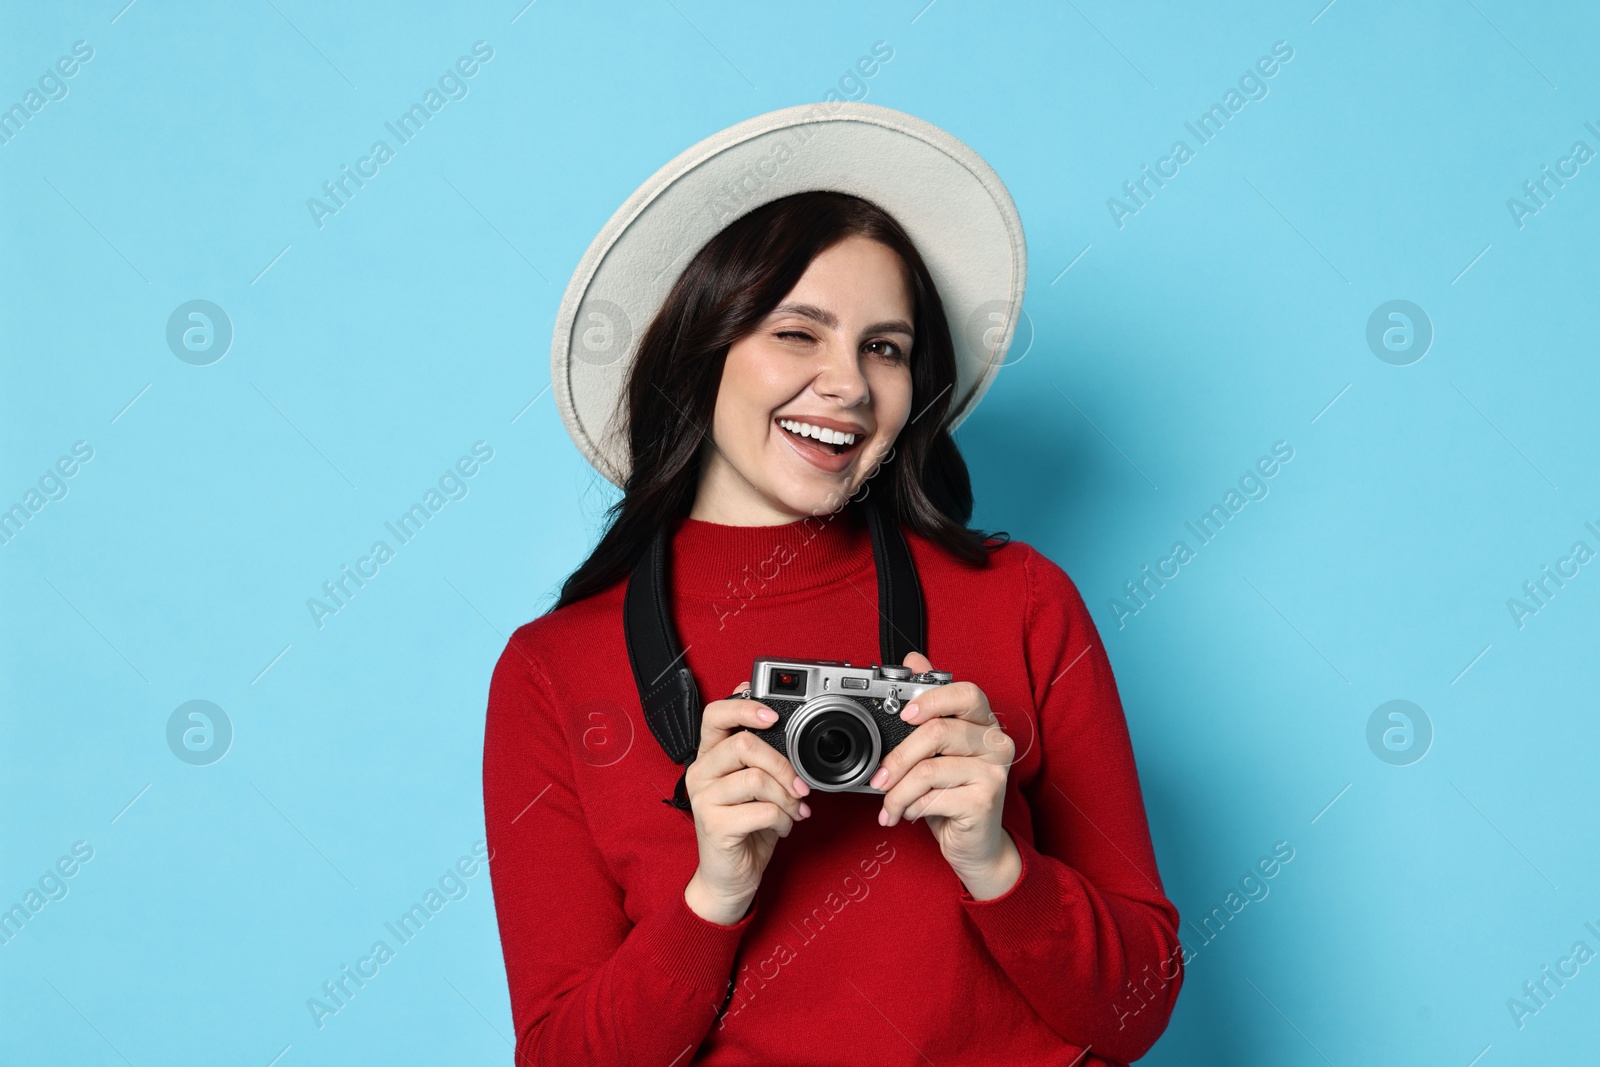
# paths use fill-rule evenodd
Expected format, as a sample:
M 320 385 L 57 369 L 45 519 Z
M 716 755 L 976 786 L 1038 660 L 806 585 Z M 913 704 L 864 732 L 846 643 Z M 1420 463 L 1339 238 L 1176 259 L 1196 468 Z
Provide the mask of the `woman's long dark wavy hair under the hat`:
M 848 507 L 880 507 L 957 558 L 982 566 L 1006 534 L 968 530 L 973 486 L 946 416 L 955 394 L 955 346 L 944 304 L 906 230 L 886 211 L 842 192 L 800 192 L 741 216 L 690 261 L 638 342 L 627 389 L 630 474 L 605 534 L 550 608 L 592 597 L 626 577 L 656 530 L 694 506 L 701 445 L 710 434 L 728 349 L 750 334 L 800 282 L 811 261 L 846 237 L 899 254 L 910 280 L 912 419 L 870 483 Z M 621 413 L 618 413 L 621 414 Z M 870 491 L 867 488 L 870 486 Z

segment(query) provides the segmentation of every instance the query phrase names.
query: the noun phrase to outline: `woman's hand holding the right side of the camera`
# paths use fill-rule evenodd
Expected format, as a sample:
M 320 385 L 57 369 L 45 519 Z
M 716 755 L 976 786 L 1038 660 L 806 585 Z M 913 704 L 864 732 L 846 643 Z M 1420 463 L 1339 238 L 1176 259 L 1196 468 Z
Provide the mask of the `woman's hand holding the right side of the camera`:
M 902 665 L 933 670 L 922 653 L 907 654 Z M 978 901 L 1003 894 L 1022 873 L 1022 856 L 1000 825 L 1016 744 L 971 681 L 923 691 L 901 709 L 901 718 L 915 729 L 869 782 L 885 790 L 878 822 L 926 817 L 966 891 Z

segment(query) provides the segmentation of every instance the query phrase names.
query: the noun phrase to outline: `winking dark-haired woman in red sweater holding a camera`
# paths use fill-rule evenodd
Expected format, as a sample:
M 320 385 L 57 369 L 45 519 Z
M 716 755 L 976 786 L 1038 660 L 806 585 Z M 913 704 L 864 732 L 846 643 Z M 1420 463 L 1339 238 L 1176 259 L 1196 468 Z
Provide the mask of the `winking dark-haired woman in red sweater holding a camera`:
M 1066 1067 L 1165 1029 L 1178 912 L 1110 665 L 1061 568 L 966 528 L 957 379 L 933 274 L 866 198 L 770 200 L 678 274 L 627 370 L 613 522 L 491 681 L 520 1064 Z M 939 662 L 904 665 L 957 678 L 906 705 L 878 792 L 808 789 L 738 696 L 674 765 L 622 627 L 654 531 L 683 661 L 742 693 L 757 656 L 877 662 L 867 507 L 926 603 Z

